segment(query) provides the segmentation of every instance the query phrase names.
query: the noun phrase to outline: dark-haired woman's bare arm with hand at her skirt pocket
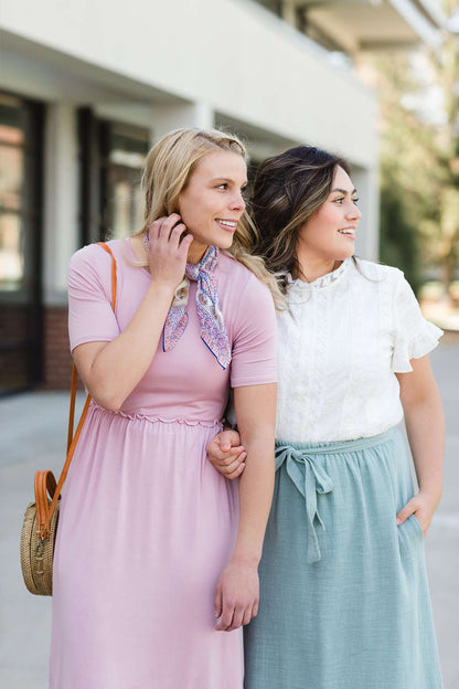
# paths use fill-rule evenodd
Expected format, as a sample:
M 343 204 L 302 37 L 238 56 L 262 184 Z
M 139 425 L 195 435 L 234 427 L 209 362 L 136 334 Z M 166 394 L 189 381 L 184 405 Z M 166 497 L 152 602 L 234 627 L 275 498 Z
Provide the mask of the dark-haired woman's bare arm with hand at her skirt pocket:
M 397 523 L 415 515 L 426 536 L 441 496 L 445 420 L 428 356 L 410 364 L 412 372 L 396 375 L 419 491 L 398 512 Z

